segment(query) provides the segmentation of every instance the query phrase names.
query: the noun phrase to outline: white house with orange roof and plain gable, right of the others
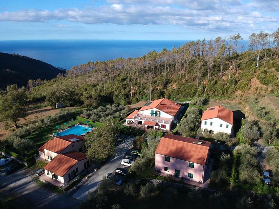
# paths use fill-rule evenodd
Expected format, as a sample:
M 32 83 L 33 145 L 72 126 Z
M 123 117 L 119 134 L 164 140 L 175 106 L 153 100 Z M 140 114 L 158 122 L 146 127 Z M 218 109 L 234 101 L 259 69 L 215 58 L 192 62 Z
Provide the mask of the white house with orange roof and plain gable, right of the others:
M 233 112 L 221 105 L 208 107 L 201 117 L 201 130 L 210 133 L 224 132 L 233 137 Z

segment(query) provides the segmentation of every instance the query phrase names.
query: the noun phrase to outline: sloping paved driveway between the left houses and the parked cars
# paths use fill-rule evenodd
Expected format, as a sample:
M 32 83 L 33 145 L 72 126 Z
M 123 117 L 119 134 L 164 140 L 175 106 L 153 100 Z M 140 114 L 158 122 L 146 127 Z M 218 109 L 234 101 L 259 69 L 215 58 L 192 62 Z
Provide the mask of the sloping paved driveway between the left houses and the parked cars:
M 73 197 L 79 200 L 86 199 L 88 192 L 94 192 L 103 179 L 103 176 L 113 172 L 122 160 L 124 154 L 132 147 L 135 136 L 122 135 L 124 140 L 116 147 L 116 154 L 110 158 L 110 161 L 103 165 L 88 181 L 76 192 Z

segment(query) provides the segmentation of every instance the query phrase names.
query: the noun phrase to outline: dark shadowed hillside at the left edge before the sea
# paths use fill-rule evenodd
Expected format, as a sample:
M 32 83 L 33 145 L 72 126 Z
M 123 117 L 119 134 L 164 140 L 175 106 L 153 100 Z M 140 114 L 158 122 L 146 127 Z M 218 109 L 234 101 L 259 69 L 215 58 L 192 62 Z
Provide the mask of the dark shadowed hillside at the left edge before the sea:
M 18 54 L 0 53 L 0 89 L 7 84 L 26 86 L 28 80 L 51 80 L 63 73 L 51 64 Z

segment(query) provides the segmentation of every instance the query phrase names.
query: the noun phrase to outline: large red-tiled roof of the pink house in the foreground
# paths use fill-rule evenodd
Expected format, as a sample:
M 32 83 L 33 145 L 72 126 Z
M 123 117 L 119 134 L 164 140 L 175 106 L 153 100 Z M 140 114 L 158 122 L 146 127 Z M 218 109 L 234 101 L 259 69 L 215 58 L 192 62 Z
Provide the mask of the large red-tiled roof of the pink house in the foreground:
M 205 165 L 210 144 L 208 141 L 168 134 L 161 138 L 155 153 Z

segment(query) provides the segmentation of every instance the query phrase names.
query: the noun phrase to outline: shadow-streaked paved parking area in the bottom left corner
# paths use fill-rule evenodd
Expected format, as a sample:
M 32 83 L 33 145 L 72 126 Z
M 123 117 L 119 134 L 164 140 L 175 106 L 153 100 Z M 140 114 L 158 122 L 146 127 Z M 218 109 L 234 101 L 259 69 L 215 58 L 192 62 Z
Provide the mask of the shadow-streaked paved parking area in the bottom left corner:
M 56 194 L 41 188 L 34 182 L 34 170 L 23 169 L 23 166 L 6 175 L 7 167 L 12 162 L 0 168 L 1 197 L 15 197 L 12 204 L 15 208 L 78 208 L 80 201 L 72 197 L 72 193 Z

